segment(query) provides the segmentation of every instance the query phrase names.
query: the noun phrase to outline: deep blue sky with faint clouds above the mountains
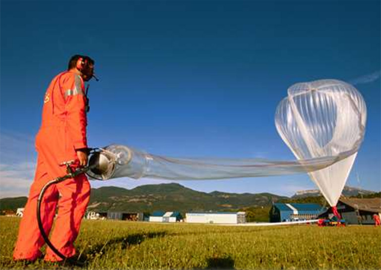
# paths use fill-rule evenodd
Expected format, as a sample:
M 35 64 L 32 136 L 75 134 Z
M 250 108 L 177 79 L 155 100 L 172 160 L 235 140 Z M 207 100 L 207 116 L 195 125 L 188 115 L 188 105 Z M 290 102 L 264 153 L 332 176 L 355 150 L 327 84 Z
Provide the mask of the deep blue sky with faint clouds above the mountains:
M 287 88 L 352 81 L 368 122 L 347 183 L 379 191 L 380 10 L 370 0 L 2 0 L 0 196 L 27 194 L 44 92 L 73 54 L 93 57 L 101 79 L 90 82 L 89 145 L 172 157 L 293 160 L 274 125 Z M 307 175 L 180 183 L 287 196 L 316 188 Z

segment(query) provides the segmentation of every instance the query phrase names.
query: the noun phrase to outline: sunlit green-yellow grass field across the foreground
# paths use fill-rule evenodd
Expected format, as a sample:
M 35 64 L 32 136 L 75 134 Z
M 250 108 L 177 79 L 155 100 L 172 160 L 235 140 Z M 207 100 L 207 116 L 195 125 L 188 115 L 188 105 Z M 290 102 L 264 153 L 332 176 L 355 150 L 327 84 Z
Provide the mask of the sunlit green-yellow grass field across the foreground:
M 0 269 L 58 269 L 12 261 L 19 218 L 0 217 Z M 381 269 L 374 226 L 237 227 L 84 220 L 83 269 Z M 80 269 L 79 267 L 77 269 Z

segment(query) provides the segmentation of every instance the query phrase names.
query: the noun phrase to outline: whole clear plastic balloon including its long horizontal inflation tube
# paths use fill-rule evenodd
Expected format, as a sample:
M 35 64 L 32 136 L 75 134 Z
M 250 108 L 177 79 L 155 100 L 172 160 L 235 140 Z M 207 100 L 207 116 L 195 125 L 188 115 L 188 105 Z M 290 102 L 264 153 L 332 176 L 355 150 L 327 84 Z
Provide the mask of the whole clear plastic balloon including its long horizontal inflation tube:
M 354 87 L 337 80 L 296 84 L 288 94 L 277 108 L 275 124 L 297 161 L 168 158 L 110 145 L 90 156 L 88 174 L 102 180 L 204 180 L 308 172 L 335 205 L 364 138 L 364 100 Z

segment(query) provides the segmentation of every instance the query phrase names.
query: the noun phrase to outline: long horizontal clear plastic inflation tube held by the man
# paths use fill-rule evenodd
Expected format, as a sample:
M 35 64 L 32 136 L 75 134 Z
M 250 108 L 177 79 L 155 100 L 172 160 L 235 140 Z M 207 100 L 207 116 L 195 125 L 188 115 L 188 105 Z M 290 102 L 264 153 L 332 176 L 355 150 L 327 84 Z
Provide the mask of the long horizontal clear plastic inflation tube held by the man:
M 338 157 L 322 157 L 300 161 L 229 158 L 169 158 L 129 148 L 109 145 L 90 156 L 92 178 L 141 177 L 170 180 L 207 180 L 260 177 L 305 173 L 325 168 Z

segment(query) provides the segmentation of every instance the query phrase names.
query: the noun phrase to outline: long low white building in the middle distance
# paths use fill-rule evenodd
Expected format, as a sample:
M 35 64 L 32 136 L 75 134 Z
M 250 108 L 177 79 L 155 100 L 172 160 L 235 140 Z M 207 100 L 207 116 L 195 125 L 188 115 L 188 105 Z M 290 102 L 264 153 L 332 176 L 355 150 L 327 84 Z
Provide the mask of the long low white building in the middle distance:
M 246 222 L 245 212 L 197 212 L 187 213 L 188 223 L 237 224 Z

